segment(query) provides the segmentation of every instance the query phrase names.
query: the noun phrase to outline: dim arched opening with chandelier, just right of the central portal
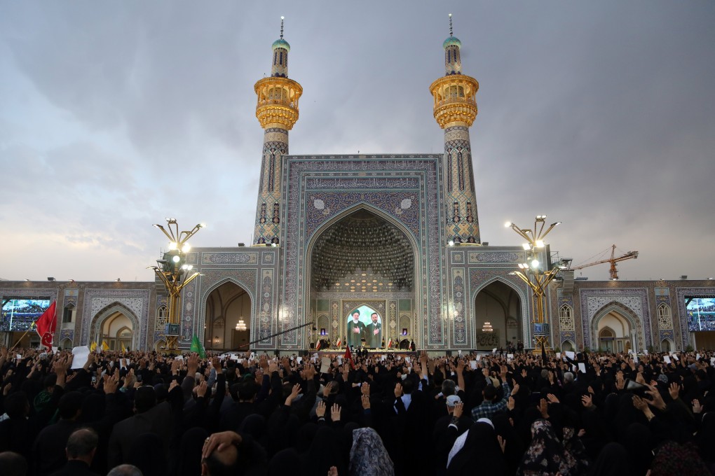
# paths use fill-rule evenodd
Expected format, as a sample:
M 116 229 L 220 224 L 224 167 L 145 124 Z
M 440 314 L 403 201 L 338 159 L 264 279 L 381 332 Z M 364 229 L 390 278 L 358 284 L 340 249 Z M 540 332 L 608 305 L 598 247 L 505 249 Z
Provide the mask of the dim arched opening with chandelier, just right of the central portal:
M 482 288 L 474 302 L 475 348 L 491 350 L 516 348 L 523 342 L 521 331 L 521 299 L 516 290 L 502 281 L 494 281 Z

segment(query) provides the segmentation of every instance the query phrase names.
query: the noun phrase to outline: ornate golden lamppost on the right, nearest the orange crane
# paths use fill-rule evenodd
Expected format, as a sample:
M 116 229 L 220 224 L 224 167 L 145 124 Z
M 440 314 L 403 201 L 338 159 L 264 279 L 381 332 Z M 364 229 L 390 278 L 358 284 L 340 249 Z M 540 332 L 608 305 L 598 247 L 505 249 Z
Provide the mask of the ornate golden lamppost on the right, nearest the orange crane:
M 509 274 L 517 275 L 533 291 L 533 317 L 531 323 L 537 350 L 541 350 L 542 345 L 544 350 L 549 350 L 551 347 L 549 343 L 551 332 L 548 316 L 546 315 L 546 293 L 548 283 L 551 283 L 553 278 L 556 278 L 559 271 L 566 268 L 566 265 L 563 265 L 561 261 L 551 265 L 551 260 L 544 253 L 546 244 L 543 239 L 555 226 L 560 224 L 560 221 L 551 223 L 544 231 L 543 229 L 546 228 L 546 215 L 536 216 L 533 230 L 519 228 L 515 223 L 511 222 L 505 224 L 507 228 L 516 231 L 521 238 L 526 240 L 526 243 L 522 245 L 524 251 L 526 251 L 526 263 L 519 263 L 519 270 L 512 271 Z M 543 258 L 543 263 L 539 260 L 540 255 Z

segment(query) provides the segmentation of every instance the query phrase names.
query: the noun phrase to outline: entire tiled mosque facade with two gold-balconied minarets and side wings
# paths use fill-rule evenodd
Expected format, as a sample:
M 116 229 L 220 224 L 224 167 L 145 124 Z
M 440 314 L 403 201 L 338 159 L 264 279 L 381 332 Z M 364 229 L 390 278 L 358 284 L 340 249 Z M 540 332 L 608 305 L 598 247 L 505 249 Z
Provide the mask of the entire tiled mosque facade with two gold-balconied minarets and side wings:
M 180 348 L 194 335 L 209 350 L 281 353 L 347 342 L 440 352 L 533 346 L 532 291 L 513 275 L 526 251 L 480 239 L 469 136 L 479 83 L 463 74 L 460 47 L 450 31 L 445 75 L 429 88 L 444 153 L 293 156 L 302 86 L 288 76 L 281 29 L 271 76 L 255 84 L 264 136 L 253 243 L 187 253 L 200 275 L 183 290 Z M 548 246 L 541 260 L 553 265 Z M 165 344 L 158 281 L 0 281 L 0 297 L 6 345 L 29 328 L 27 303 L 50 300 L 63 347 Z M 715 348 L 715 332 L 693 332 L 686 309 L 709 297 L 713 280 L 583 281 L 567 271 L 546 294 L 549 340 L 563 350 Z M 23 343 L 35 341 L 29 333 Z

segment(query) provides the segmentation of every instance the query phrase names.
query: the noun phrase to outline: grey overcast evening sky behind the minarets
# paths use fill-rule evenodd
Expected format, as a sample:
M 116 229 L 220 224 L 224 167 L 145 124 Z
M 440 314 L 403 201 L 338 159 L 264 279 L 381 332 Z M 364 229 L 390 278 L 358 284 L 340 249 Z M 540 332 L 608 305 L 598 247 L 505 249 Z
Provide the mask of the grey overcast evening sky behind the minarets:
M 448 13 L 480 83 L 481 238 L 505 221 L 621 279 L 715 275 L 712 1 L 0 1 L 0 278 L 152 280 L 152 223 L 250 243 L 253 84 L 286 17 L 290 153 L 441 153 Z M 576 275 L 578 275 L 578 271 Z M 608 278 L 608 265 L 582 271 Z

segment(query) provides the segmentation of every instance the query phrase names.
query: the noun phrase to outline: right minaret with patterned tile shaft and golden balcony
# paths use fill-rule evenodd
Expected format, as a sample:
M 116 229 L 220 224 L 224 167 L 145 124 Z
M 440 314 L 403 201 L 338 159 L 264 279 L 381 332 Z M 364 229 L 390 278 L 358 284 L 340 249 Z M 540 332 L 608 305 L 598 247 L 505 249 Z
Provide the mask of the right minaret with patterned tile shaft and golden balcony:
M 445 76 L 432 83 L 430 92 L 435 101 L 435 119 L 445 130 L 445 239 L 453 244 L 480 244 L 469 142 L 469 128 L 477 117 L 479 83 L 462 74 L 460 46 L 461 42 L 453 36 L 450 14 L 449 38 L 443 44 Z

